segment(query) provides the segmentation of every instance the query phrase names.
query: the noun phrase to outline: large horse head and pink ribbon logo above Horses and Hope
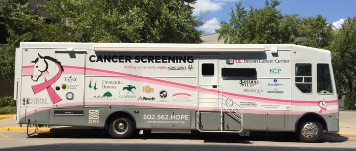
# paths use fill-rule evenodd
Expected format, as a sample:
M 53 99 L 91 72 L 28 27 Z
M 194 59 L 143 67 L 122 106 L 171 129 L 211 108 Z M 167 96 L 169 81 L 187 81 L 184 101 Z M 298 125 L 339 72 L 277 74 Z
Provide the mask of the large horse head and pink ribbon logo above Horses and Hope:
M 33 68 L 33 73 L 31 75 L 31 79 L 35 82 L 38 81 L 39 77 L 41 77 L 43 73 L 51 74 L 48 72 L 48 67 L 52 67 L 52 66 L 49 66 L 49 63 L 55 64 L 57 66 L 58 72 L 53 78 L 51 78 L 49 80 L 44 78 L 44 81 L 42 83 L 33 85 L 31 87 L 32 87 L 34 94 L 37 94 L 44 89 L 47 89 L 47 93 L 48 93 L 53 104 L 56 104 L 59 101 L 62 101 L 62 99 L 58 96 L 58 94 L 54 91 L 54 89 L 51 86 L 59 79 L 59 77 L 62 75 L 62 72 L 64 71 L 61 63 L 58 62 L 57 59 L 55 59 L 53 57 L 41 56 L 39 53 L 38 53 L 38 57 L 31 63 L 35 64 L 34 68 Z

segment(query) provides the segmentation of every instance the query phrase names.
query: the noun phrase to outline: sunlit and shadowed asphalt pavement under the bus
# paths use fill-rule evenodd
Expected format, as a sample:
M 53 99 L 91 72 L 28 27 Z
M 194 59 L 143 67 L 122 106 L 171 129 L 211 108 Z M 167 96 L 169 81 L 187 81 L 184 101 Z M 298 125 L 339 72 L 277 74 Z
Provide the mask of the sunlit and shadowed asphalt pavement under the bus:
M 135 133 L 129 139 L 112 139 L 102 130 L 38 132 L 0 131 L 0 150 L 355 150 L 356 136 L 324 135 L 318 143 L 298 142 L 293 134 Z

